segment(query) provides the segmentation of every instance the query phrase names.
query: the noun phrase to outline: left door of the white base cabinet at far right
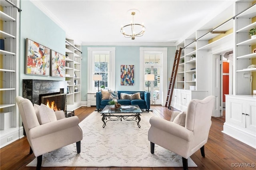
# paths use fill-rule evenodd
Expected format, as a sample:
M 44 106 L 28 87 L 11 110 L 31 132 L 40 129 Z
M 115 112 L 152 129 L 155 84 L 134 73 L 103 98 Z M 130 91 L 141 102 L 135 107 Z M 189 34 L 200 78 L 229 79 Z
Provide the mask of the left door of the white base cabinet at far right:
M 238 99 L 230 99 L 227 105 L 226 118 L 228 122 L 245 127 L 246 106 Z

